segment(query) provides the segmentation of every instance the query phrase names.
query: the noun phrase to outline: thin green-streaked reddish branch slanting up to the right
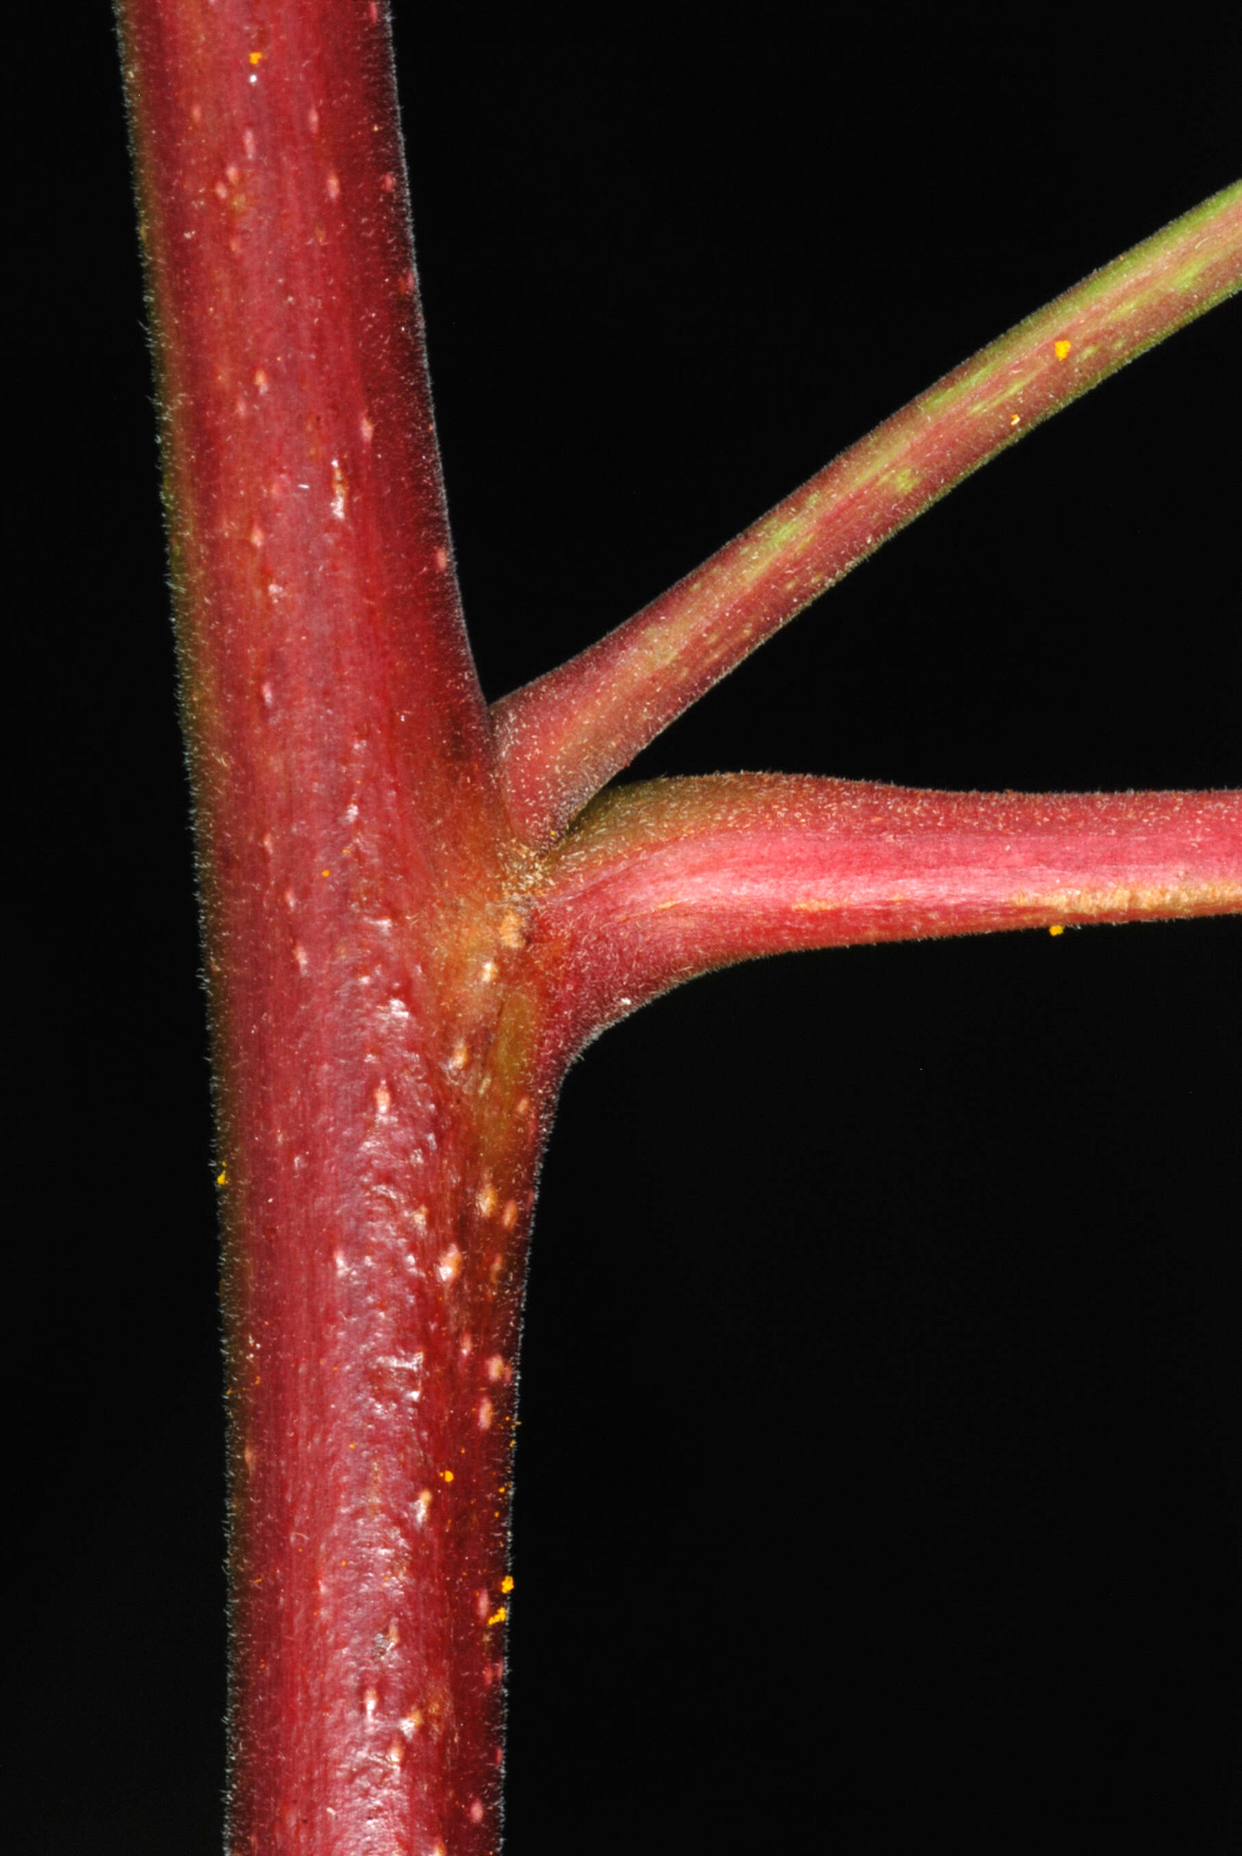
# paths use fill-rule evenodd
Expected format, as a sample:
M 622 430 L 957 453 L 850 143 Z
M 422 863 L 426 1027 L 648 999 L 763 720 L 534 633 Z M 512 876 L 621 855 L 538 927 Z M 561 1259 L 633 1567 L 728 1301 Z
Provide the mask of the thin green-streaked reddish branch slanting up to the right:
M 1095 271 L 559 670 L 494 707 L 509 813 L 540 844 L 824 588 L 988 458 L 1242 284 L 1242 182 Z

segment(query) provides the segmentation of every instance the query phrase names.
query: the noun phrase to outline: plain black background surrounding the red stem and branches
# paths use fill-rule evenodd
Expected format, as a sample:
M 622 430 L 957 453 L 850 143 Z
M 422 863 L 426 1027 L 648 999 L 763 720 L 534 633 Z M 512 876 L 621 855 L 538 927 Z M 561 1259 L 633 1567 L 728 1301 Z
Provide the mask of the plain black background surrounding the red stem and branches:
M 1149 45 L 832 6 L 397 6 L 488 694 L 1242 169 Z M 206 1856 L 202 1000 L 111 22 L 7 74 L 6 1841 Z M 1242 783 L 1236 304 L 973 479 L 639 772 Z M 1235 575 L 1233 590 L 1227 575 Z M 537 1219 L 511 1856 L 1242 1849 L 1236 922 L 769 961 L 566 1086 Z

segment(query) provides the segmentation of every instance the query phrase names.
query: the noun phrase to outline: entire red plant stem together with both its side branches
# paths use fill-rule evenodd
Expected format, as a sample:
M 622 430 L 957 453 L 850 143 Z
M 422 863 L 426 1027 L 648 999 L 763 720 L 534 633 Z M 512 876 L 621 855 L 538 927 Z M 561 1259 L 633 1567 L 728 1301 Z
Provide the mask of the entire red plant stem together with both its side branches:
M 1032 317 L 488 716 L 386 7 L 119 11 L 223 1162 L 230 1849 L 485 1856 L 525 1238 L 574 1050 L 750 954 L 1242 906 L 1236 794 L 739 776 L 564 828 L 886 535 L 1233 288 L 1242 202 Z

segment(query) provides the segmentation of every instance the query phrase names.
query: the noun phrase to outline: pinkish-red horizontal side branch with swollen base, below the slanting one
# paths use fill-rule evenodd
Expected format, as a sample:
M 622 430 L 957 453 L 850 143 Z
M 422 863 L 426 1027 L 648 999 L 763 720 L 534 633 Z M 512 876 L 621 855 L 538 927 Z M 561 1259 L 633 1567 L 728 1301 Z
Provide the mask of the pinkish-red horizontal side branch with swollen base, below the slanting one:
M 666 780 L 605 794 L 544 870 L 531 934 L 572 1050 L 756 954 L 1240 913 L 1242 793 Z

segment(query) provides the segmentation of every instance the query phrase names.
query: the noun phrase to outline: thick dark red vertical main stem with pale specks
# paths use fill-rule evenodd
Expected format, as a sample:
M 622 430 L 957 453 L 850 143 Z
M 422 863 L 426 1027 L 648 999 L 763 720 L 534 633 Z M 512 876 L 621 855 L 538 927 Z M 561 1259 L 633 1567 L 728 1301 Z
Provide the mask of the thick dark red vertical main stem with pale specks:
M 121 0 L 217 1078 L 230 1849 L 498 1845 L 546 1091 L 368 0 Z

